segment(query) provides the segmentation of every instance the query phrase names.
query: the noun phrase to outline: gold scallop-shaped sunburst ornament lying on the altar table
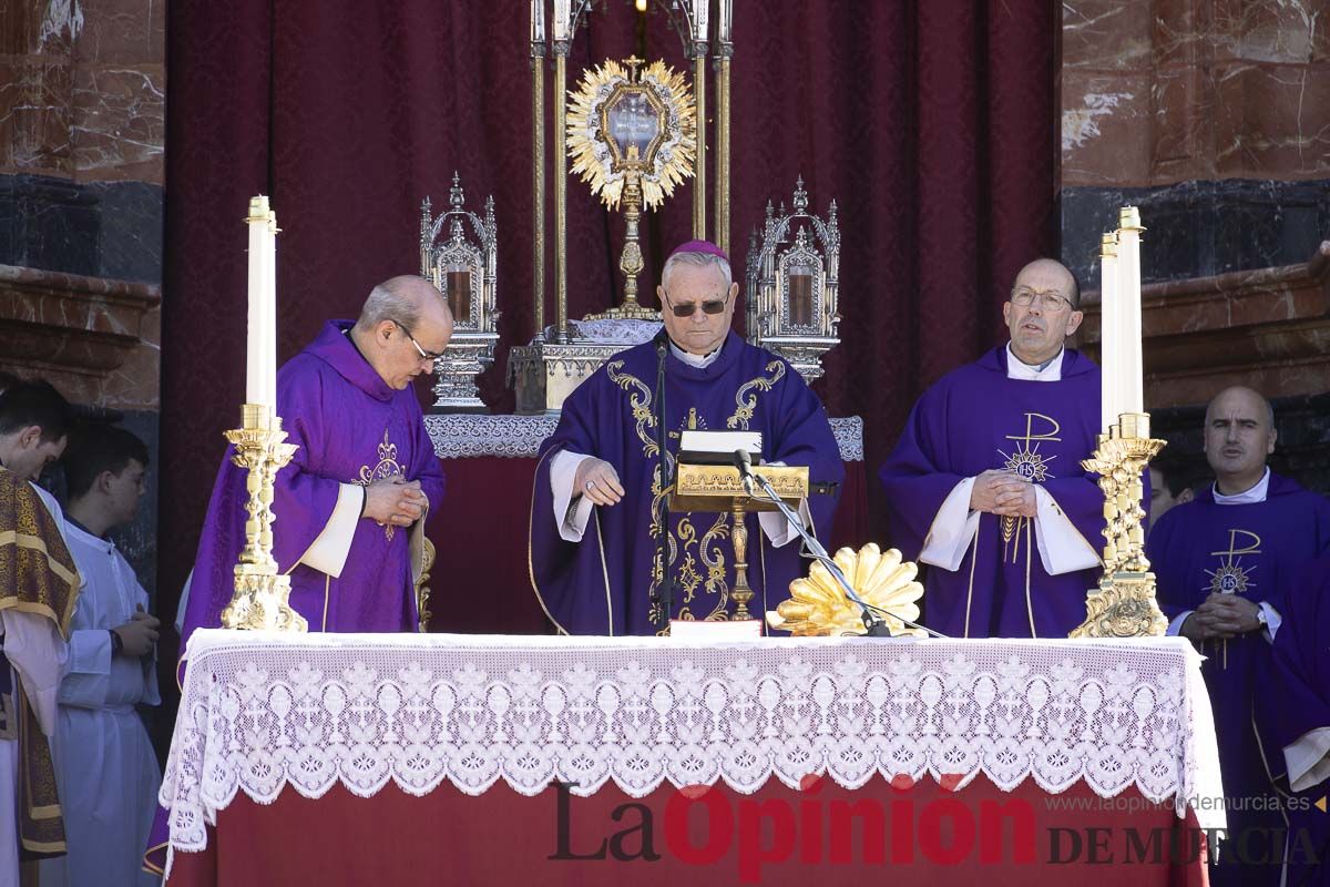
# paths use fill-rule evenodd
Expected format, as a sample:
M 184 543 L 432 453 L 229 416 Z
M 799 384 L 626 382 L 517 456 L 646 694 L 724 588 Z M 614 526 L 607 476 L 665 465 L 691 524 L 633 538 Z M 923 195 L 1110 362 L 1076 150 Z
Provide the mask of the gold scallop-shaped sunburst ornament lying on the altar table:
M 918 601 L 923 597 L 923 585 L 915 581 L 919 568 L 912 561 L 903 560 L 895 548 L 883 552 L 872 543 L 858 552 L 842 548 L 833 560 L 855 593 L 882 610 L 879 616 L 892 636 L 924 637 L 924 632 L 907 628 L 900 621 L 919 621 Z M 819 563 L 813 564 L 807 578 L 790 582 L 790 600 L 769 610 L 766 622 L 794 636 L 864 633 L 859 605 L 845 596 L 841 585 Z

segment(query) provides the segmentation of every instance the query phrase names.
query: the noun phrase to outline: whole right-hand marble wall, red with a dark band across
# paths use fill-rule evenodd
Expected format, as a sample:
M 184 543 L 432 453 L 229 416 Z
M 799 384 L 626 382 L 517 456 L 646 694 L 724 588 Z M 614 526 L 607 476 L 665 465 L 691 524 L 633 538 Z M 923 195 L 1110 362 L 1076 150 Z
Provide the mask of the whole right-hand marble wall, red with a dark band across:
M 1063 258 L 1141 207 L 1146 407 L 1330 386 L 1330 0 L 1065 0 Z M 1297 297 L 1297 298 L 1294 298 Z

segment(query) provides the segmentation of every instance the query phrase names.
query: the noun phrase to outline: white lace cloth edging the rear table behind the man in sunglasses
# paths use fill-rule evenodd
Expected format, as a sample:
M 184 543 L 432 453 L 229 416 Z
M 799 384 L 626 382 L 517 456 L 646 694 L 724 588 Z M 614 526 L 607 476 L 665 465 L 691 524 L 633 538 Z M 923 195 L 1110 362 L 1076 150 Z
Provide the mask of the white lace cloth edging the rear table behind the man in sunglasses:
M 863 461 L 863 419 L 831 419 L 831 434 L 842 461 Z M 424 418 L 434 452 L 440 459 L 508 456 L 533 459 L 540 443 L 555 432 L 559 416 L 477 416 L 444 414 Z

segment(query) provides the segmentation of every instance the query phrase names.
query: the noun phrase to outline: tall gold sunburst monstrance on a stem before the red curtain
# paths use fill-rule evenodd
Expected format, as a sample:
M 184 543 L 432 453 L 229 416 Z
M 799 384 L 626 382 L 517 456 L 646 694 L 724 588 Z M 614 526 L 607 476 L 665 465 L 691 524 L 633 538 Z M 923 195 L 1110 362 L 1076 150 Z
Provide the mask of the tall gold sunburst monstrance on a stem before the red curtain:
M 569 93 L 568 156 L 572 172 L 610 209 L 624 206 L 626 237 L 618 259 L 624 305 L 602 315 L 654 319 L 637 303 L 637 275 L 645 263 L 637 226 L 642 207 L 653 209 L 693 174 L 697 114 L 684 76 L 664 61 L 641 70 L 641 59 L 606 61 L 587 70 Z

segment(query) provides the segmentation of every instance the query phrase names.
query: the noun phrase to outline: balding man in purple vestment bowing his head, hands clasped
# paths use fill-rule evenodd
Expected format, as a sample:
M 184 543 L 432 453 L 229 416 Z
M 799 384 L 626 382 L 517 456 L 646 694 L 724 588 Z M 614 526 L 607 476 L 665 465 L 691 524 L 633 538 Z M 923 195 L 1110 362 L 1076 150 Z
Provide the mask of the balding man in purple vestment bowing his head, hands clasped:
M 277 374 L 277 412 L 297 445 L 277 475 L 273 556 L 311 632 L 407 632 L 424 517 L 443 496 L 411 388 L 452 335 L 448 303 L 419 277 L 374 287 L 360 318 L 331 320 Z M 245 471 L 230 449 L 213 487 L 182 640 L 215 626 L 245 540 Z

